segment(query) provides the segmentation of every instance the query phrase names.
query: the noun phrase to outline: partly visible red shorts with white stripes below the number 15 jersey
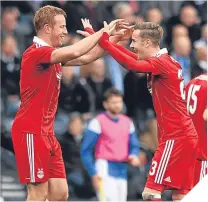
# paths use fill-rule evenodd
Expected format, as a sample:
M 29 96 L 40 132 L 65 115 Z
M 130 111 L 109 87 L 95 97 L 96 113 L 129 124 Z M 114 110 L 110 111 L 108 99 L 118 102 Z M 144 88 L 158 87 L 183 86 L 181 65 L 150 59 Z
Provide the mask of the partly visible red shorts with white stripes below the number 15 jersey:
M 194 186 L 202 180 L 202 178 L 208 174 L 208 162 L 196 160 L 195 172 L 194 172 Z

